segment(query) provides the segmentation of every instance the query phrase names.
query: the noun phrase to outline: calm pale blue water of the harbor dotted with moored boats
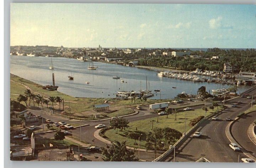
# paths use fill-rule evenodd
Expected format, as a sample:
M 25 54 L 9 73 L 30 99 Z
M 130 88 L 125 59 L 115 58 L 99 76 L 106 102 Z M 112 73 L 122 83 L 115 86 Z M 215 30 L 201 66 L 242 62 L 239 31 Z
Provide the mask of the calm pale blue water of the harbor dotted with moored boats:
M 198 88 L 204 85 L 210 92 L 212 89 L 230 87 L 223 84 L 159 77 L 156 71 L 101 62 L 94 62 L 94 66 L 98 68 L 90 70 L 87 69 L 89 62 L 70 58 L 52 57 L 53 70 L 49 69 L 51 57 L 11 56 L 10 60 L 12 74 L 41 85 L 52 85 L 52 73 L 54 73 L 55 85 L 59 86 L 58 91 L 75 97 L 114 97 L 118 90 L 140 90 L 140 87 L 145 90 L 146 77 L 148 89 L 161 89 L 161 99 L 173 98 L 182 91 L 196 94 Z M 74 77 L 73 81 L 68 78 L 71 73 Z M 113 76 L 119 76 L 120 79 L 112 79 Z M 125 82 L 121 83 L 121 79 Z M 239 86 L 238 93 L 244 91 L 246 87 L 250 86 Z M 160 94 L 156 93 L 152 99 L 160 99 Z

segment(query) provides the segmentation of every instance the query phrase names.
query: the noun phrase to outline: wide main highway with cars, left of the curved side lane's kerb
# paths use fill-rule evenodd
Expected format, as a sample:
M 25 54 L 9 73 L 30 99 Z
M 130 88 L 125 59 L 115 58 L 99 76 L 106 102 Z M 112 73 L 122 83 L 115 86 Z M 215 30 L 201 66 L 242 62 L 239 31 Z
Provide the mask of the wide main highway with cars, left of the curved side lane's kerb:
M 251 91 L 249 94 L 255 94 Z M 237 107 L 231 107 L 233 103 L 242 101 Z M 226 117 L 235 119 L 240 112 L 244 112 L 250 108 L 250 99 L 237 98 L 225 102 L 228 106 L 226 110 L 217 114 L 217 121 L 207 119 L 201 124 L 197 131 L 202 132 L 200 138 L 192 138 L 190 136 L 178 149 L 176 149 L 176 162 L 195 162 L 201 157 L 207 158 L 211 162 L 238 162 L 238 155 L 242 156 L 241 152 L 235 152 L 229 147 L 229 139 L 226 137 L 225 129 L 228 121 Z M 223 103 L 222 103 L 223 104 Z M 247 131 L 246 131 L 247 133 Z M 171 154 L 165 161 L 173 161 Z

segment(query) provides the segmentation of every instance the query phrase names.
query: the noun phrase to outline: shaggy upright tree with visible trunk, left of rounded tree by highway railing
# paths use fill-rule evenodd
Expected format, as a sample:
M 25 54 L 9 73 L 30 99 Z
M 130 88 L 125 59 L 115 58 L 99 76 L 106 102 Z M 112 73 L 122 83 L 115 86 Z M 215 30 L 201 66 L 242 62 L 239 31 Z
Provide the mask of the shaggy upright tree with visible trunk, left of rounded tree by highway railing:
M 156 158 L 156 150 L 162 149 L 161 139 L 163 138 L 163 131 L 161 128 L 154 128 L 152 132 L 150 131 L 146 135 L 146 150 L 154 148 L 155 158 Z

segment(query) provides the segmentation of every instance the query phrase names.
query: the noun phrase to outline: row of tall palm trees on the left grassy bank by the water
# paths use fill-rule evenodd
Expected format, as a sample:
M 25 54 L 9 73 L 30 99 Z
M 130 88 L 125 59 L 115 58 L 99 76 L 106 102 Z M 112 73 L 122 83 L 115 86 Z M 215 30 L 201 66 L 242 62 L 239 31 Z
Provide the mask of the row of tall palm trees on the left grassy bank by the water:
M 29 100 L 29 104 L 27 105 L 27 101 Z M 26 106 L 30 106 L 31 100 L 33 100 L 33 105 L 34 102 L 36 101 L 37 105 L 39 106 L 39 103 L 41 103 L 41 106 L 43 107 L 43 104 L 46 104 L 48 108 L 48 103 L 52 102 L 52 108 L 54 110 L 53 103 L 58 102 L 59 103 L 59 110 L 60 110 L 60 103 L 63 101 L 62 97 L 59 96 L 52 96 L 49 97 L 48 99 L 44 99 L 43 96 L 41 95 L 36 95 L 31 92 L 31 90 L 27 89 L 25 91 L 25 95 L 19 95 L 17 98 L 18 102 L 24 101 L 26 103 Z M 63 109 L 64 110 L 64 109 Z

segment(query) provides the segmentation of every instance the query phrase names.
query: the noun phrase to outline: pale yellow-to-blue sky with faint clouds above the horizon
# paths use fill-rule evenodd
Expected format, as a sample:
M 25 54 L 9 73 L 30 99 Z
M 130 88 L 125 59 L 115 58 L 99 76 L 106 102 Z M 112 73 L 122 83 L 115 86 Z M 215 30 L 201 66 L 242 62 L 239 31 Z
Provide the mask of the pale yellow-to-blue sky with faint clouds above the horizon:
M 256 5 L 12 3 L 14 45 L 256 48 Z

